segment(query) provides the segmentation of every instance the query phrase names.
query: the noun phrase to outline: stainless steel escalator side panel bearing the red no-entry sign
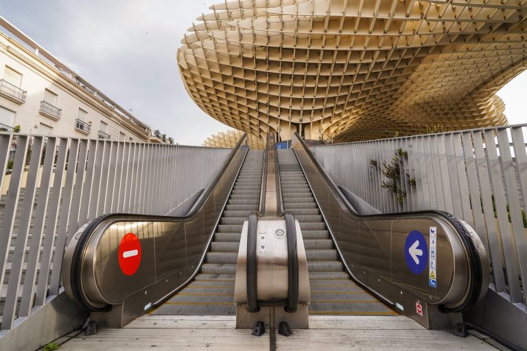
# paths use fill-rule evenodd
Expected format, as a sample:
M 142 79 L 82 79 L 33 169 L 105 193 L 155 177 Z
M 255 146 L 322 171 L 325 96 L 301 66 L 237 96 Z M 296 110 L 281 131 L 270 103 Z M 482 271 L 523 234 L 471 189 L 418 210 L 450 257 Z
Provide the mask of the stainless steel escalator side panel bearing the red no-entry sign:
M 122 326 L 194 278 L 220 220 L 218 205 L 225 206 L 248 152 L 242 145 L 245 139 L 187 217 L 113 214 L 83 226 L 65 252 L 62 280 L 67 295 L 91 311 L 122 307 L 126 301 L 128 311 L 112 311 L 120 322 L 111 325 Z M 119 265 L 119 244 L 128 233 L 139 239 L 141 254 L 132 275 Z

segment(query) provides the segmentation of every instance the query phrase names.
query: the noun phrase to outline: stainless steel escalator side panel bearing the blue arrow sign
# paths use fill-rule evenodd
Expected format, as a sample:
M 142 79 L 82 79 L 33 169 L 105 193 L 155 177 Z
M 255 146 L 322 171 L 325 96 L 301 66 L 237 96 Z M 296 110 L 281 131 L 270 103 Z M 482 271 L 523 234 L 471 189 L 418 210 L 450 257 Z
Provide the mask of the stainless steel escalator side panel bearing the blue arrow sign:
M 467 252 L 467 243 L 458 230 L 447 220 L 447 215 L 432 211 L 397 215 L 359 216 L 351 213 L 351 206 L 344 204 L 344 197 L 338 188 L 330 186 L 329 178 L 316 165 L 316 161 L 307 147 L 298 137 L 294 138 L 293 149 L 314 193 L 320 211 L 336 243 L 340 255 L 353 277 L 364 285 L 373 274 L 379 282 L 386 280 L 393 284 L 386 287 L 386 293 L 379 293 L 388 302 L 397 302 L 397 289 L 404 289 L 417 297 L 421 302 L 441 304 L 447 308 L 463 306 L 467 299 L 484 295 L 488 285 L 489 260 L 483 247 L 477 257 Z M 460 223 L 460 221 L 457 221 Z M 461 225 L 461 224 L 460 224 Z M 465 226 L 462 224 L 462 226 Z M 429 263 L 420 274 L 413 274 L 406 265 L 405 241 L 413 230 L 419 230 L 430 248 L 430 227 L 438 231 L 437 252 L 437 286 L 430 286 Z M 472 235 L 471 235 L 472 236 Z M 473 233 L 474 245 L 479 241 Z M 476 262 L 477 261 L 477 262 Z M 471 274 L 471 265 L 481 265 L 482 276 Z M 485 273 L 487 272 L 487 273 Z M 478 287 L 475 280 L 481 279 L 481 291 L 469 291 L 471 286 Z M 471 296 L 468 294 L 471 293 Z M 474 299 L 475 300 L 475 299 Z M 476 302 L 476 301 L 473 301 Z

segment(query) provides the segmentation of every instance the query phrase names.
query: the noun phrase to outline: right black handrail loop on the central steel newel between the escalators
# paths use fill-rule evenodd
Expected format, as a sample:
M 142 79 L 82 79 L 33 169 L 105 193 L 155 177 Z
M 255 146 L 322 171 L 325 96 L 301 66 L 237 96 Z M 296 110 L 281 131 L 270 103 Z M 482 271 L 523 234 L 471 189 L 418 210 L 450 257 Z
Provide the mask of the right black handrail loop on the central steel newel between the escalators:
M 296 250 L 296 225 L 292 213 L 285 213 L 285 232 L 288 237 L 288 306 L 285 311 L 298 308 L 298 251 Z

